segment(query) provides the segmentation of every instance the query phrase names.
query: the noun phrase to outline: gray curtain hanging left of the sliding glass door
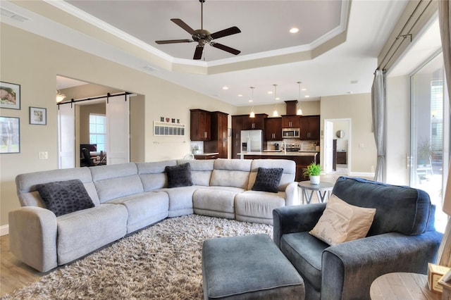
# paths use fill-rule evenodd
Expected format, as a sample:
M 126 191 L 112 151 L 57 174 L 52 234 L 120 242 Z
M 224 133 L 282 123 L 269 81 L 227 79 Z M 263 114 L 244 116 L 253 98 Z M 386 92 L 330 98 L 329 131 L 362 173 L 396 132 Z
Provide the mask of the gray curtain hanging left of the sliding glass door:
M 373 108 L 373 131 L 378 151 L 378 161 L 374 180 L 385 181 L 385 76 L 383 70 L 374 73 L 371 88 L 371 106 Z

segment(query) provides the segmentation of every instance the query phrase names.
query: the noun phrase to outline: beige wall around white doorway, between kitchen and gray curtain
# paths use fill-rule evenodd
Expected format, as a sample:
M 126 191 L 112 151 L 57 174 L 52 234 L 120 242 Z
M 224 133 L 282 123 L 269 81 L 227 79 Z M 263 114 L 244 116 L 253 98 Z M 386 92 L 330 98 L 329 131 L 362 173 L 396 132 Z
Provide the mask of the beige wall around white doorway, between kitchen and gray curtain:
M 321 97 L 321 132 L 325 119 L 351 120 L 350 175 L 371 175 L 376 168 L 376 142 L 372 131 L 371 94 Z M 348 137 L 349 137 L 348 135 Z M 321 135 L 321 145 L 323 145 Z M 323 151 L 321 161 L 324 161 Z M 349 167 L 349 166 L 348 166 Z

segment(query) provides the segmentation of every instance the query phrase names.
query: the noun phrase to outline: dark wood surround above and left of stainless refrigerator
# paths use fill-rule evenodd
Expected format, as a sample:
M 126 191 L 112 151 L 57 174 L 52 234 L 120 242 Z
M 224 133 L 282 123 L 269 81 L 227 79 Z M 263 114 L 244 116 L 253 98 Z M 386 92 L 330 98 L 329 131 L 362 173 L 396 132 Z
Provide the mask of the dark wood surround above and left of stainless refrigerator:
M 240 158 L 241 130 L 264 130 L 264 120 L 268 117 L 266 113 L 256 113 L 255 118 L 249 115 L 232 115 L 232 158 Z

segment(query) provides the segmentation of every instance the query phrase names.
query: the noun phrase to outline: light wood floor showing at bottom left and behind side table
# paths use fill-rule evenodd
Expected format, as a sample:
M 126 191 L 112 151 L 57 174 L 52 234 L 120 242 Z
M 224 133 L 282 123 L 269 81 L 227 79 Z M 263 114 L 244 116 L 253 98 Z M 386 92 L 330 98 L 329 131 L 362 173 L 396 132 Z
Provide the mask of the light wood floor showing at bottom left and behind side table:
M 335 183 L 339 176 L 339 174 L 321 175 L 321 180 Z M 314 193 L 312 199 L 312 203 L 314 202 L 318 202 L 316 193 Z M 25 263 L 18 261 L 9 251 L 9 236 L 0 237 L 0 297 L 30 285 L 45 274 L 47 273 L 39 273 Z

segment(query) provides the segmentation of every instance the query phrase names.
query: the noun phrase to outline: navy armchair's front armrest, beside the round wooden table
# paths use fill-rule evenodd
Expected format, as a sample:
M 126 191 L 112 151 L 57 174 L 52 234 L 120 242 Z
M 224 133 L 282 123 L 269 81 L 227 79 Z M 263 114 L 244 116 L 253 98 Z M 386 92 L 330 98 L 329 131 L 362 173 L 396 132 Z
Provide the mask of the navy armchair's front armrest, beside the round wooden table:
M 377 277 L 393 272 L 427 273 L 442 234 L 387 233 L 330 246 L 323 251 L 321 299 L 369 299 Z

